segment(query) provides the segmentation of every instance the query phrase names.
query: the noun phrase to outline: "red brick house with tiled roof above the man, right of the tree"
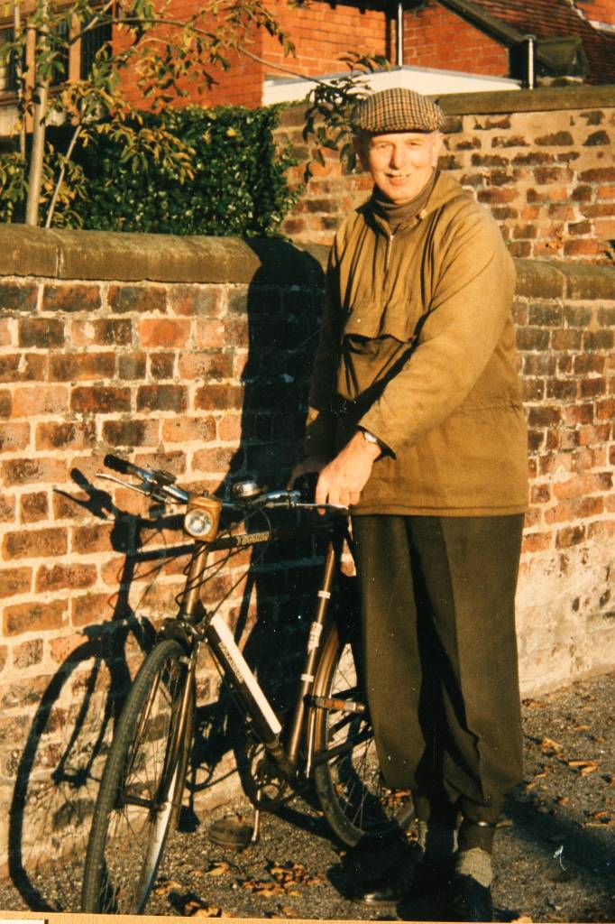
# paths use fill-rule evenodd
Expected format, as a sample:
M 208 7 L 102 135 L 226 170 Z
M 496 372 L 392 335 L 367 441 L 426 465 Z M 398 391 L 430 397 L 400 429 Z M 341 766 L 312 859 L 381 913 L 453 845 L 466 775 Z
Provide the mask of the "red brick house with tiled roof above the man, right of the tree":
M 289 64 L 306 76 L 340 71 L 339 55 L 349 48 L 385 55 L 401 68 L 396 82 L 438 95 L 485 89 L 517 89 L 557 79 L 615 83 L 615 0 L 400 0 L 390 4 L 299 6 L 280 16 L 296 45 L 296 58 L 283 62 L 274 44 L 261 57 Z M 508 80 L 512 86 L 473 88 L 461 77 Z M 434 79 L 446 78 L 444 85 Z M 274 93 L 266 66 L 254 71 L 253 96 L 263 81 L 263 102 Z M 221 85 L 219 93 L 223 94 Z M 304 89 L 297 83 L 295 96 Z

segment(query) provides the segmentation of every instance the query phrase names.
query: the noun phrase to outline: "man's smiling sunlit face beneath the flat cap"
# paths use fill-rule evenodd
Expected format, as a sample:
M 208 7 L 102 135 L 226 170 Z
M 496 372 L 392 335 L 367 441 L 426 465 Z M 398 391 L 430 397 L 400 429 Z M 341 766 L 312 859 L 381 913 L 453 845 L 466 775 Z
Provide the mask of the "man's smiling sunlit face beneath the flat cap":
M 360 140 L 356 148 L 380 192 L 392 202 L 405 202 L 428 182 L 443 140 L 440 131 L 395 131 Z

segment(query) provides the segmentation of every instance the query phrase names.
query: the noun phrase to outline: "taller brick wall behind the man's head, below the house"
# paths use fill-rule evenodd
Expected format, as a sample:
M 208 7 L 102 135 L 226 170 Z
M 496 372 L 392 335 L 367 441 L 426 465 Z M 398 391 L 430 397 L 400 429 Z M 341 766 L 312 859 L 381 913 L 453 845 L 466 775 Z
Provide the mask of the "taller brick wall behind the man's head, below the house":
M 449 116 L 440 166 L 491 211 L 513 256 L 612 263 L 612 87 L 470 93 L 439 103 Z M 296 106 L 278 131 L 303 161 L 301 126 Z M 328 243 L 370 188 L 367 176 L 343 176 L 328 154 L 283 230 L 297 242 Z

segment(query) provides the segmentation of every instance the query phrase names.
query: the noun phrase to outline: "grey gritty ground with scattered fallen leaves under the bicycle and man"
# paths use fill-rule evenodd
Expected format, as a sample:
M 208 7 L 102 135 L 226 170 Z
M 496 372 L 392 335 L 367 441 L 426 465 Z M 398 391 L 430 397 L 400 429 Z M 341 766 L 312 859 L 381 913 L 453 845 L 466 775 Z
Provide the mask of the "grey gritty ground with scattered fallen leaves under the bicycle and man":
M 525 702 L 525 782 L 497 845 L 498 920 L 615 920 L 614 707 L 615 674 Z M 440 919 L 437 896 L 377 912 L 344 898 L 348 857 L 298 799 L 265 817 L 259 844 L 243 852 L 212 845 L 209 823 L 175 835 L 148 913 Z M 79 881 L 74 861 L 32 876 L 30 894 L 0 882 L 0 908 L 78 910 Z

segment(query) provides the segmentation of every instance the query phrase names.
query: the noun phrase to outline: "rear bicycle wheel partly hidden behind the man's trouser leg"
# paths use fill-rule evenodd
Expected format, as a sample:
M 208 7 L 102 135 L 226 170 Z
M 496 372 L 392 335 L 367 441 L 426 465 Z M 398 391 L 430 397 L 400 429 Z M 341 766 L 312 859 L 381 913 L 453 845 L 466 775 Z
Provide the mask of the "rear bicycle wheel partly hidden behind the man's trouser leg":
M 332 625 L 322 641 L 314 691 L 329 699 L 358 701 L 363 712 L 316 707 L 314 785 L 333 833 L 348 846 L 404 831 L 414 812 L 409 792 L 384 782 L 364 693 L 358 688 L 350 640 Z M 326 760 L 325 752 L 340 750 Z

